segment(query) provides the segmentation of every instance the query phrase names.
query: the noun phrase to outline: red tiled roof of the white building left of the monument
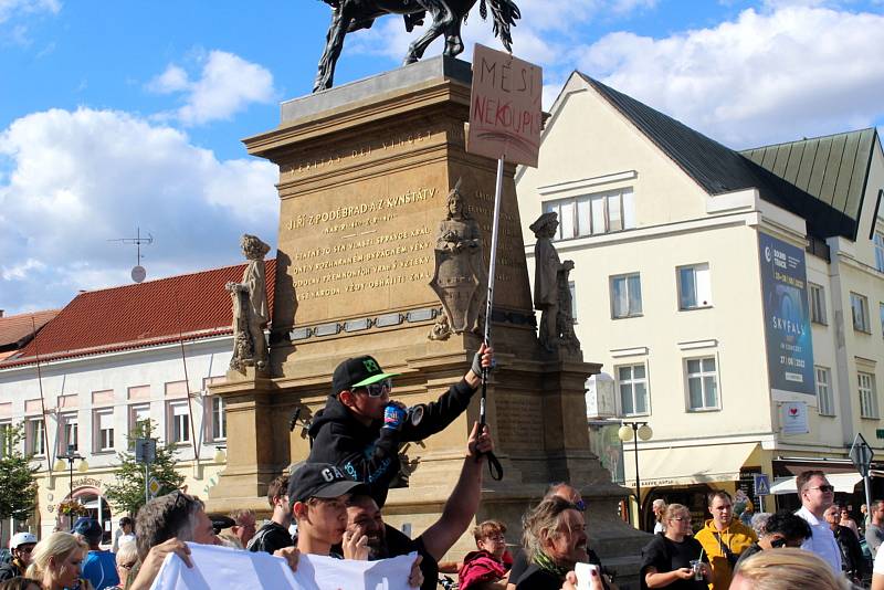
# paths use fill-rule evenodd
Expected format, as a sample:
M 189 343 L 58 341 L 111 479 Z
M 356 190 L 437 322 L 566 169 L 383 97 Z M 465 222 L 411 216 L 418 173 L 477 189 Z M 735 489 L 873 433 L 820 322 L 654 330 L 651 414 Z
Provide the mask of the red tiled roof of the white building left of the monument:
M 232 333 L 229 281 L 245 264 L 81 293 L 19 354 L 13 367 L 112 350 L 193 340 Z M 265 261 L 267 304 L 273 309 L 276 261 Z

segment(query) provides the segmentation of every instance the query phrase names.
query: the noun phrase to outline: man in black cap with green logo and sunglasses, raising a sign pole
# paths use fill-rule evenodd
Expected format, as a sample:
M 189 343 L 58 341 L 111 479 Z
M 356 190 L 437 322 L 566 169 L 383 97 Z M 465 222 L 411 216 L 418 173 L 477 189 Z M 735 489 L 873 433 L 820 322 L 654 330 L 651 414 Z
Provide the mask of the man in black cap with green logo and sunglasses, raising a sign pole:
M 337 366 L 332 394 L 309 428 L 313 447 L 307 461 L 330 463 L 349 477 L 368 485 L 368 493 L 383 507 L 387 491 L 399 473 L 399 445 L 421 441 L 444 430 L 463 412 L 481 383 L 482 367 L 494 362 L 485 345 L 473 358 L 464 378 L 435 402 L 422 407 L 420 420 L 390 401 L 392 377 L 373 357 L 349 358 Z

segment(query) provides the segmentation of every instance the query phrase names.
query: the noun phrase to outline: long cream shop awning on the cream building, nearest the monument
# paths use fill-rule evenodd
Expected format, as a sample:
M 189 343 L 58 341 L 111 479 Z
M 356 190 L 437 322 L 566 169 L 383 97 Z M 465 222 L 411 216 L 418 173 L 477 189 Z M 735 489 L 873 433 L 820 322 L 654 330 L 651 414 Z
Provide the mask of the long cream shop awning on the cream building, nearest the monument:
M 758 443 L 707 446 L 639 447 L 639 477 L 642 487 L 693 485 L 739 480 L 740 468 Z M 635 486 L 635 457 L 630 443 L 623 444 L 625 485 Z

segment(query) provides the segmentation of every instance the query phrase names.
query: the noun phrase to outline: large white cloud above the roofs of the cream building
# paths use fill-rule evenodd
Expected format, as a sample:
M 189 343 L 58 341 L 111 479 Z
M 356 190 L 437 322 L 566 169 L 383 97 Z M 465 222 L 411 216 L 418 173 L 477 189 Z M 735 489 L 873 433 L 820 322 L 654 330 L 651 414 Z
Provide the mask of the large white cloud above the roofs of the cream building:
M 572 53 L 587 74 L 703 133 L 749 147 L 873 125 L 884 116 L 884 15 L 746 10 L 665 39 L 611 33 Z

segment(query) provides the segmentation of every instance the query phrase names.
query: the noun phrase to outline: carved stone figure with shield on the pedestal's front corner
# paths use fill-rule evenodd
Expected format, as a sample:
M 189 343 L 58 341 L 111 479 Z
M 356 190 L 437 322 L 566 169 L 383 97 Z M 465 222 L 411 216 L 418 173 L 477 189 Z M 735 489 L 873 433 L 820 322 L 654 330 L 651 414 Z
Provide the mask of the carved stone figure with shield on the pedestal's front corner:
M 435 272 L 430 286 L 442 303 L 443 314 L 430 330 L 431 340 L 452 334 L 481 333 L 484 326 L 488 280 L 484 267 L 478 223 L 466 212 L 461 179 L 448 196 L 448 215 L 439 223 Z

